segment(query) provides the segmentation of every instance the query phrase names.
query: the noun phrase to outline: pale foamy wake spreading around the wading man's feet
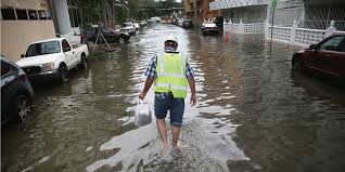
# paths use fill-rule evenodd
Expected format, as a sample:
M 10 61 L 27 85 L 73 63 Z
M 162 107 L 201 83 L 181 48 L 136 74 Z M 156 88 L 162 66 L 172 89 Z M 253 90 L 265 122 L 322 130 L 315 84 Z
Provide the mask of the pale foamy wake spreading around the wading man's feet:
M 168 121 L 167 121 L 168 123 Z M 181 129 L 178 143 L 181 157 L 174 159 L 162 149 L 162 143 L 155 124 L 149 124 L 122 135 L 114 136 L 100 147 L 100 151 L 119 149 L 110 158 L 100 159 L 87 167 L 87 171 L 115 167 L 122 163 L 122 171 L 229 171 L 228 160 L 248 160 L 231 138 L 234 124 L 225 118 L 187 119 Z M 170 129 L 169 125 L 167 125 Z M 168 138 L 171 134 L 168 130 Z

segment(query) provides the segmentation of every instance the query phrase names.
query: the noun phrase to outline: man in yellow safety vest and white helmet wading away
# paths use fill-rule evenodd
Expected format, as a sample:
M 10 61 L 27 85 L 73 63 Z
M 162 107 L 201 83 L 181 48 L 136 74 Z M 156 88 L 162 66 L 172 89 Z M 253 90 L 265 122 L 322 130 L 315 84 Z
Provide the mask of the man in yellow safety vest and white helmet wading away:
M 168 148 L 165 117 L 170 113 L 173 148 L 177 148 L 184 111 L 184 97 L 188 84 L 191 89 L 190 104 L 196 103 L 194 74 L 187 55 L 177 52 L 178 41 L 175 36 L 168 36 L 164 42 L 165 52 L 154 56 L 146 69 L 145 85 L 139 98 L 143 100 L 154 82 L 154 111 L 157 129 L 164 148 Z

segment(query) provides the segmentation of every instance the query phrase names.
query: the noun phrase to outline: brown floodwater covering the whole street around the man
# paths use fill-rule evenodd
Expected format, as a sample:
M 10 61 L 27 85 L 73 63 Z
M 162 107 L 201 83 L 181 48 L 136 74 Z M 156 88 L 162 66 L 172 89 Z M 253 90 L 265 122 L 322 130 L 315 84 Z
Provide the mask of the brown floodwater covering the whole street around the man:
M 162 150 L 155 121 L 133 124 L 143 72 L 176 35 L 195 72 L 180 157 Z M 64 85 L 36 88 L 34 116 L 1 131 L 1 171 L 345 171 L 345 93 L 291 72 L 299 48 L 260 36 L 203 37 L 150 26 L 99 56 Z M 146 95 L 153 108 L 153 92 Z M 153 118 L 154 119 L 154 118 Z M 167 121 L 168 122 L 168 121 Z M 171 135 L 169 134 L 171 140 Z

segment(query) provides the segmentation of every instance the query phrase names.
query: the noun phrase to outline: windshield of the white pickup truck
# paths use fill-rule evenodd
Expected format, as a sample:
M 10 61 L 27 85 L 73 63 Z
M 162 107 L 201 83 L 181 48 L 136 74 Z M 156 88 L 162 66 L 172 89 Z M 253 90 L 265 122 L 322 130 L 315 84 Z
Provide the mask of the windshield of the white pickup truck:
M 61 50 L 60 50 L 59 41 L 35 43 L 35 44 L 30 44 L 30 47 L 27 49 L 25 57 L 60 53 L 60 51 Z

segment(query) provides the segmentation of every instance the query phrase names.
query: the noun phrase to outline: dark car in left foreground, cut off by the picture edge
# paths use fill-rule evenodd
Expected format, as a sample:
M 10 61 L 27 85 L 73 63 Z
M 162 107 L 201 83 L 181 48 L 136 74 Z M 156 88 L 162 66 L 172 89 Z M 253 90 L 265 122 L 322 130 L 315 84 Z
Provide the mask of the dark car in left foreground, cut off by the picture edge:
M 33 111 L 34 90 L 21 67 L 1 55 L 1 127 Z

